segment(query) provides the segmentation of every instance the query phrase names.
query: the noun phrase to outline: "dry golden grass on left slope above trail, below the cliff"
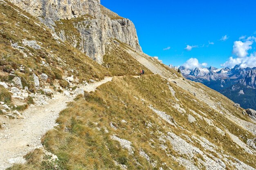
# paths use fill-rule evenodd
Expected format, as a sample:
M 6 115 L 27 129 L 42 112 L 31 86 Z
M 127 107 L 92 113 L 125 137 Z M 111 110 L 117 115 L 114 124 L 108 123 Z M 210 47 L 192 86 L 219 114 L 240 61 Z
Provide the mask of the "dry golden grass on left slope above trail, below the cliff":
M 45 26 L 35 24 L 40 23 L 38 19 L 10 2 L 7 3 L 0 4 L 0 69 L 10 72 L 19 69 L 21 65 L 25 66 L 25 71 L 19 74 L 25 77 L 23 82 L 28 85 L 30 91 L 34 91 L 31 83 L 32 72 L 37 75 L 46 73 L 51 84 L 55 79 L 62 79 L 64 71 L 67 75 L 78 77 L 81 82 L 88 79 L 103 79 L 105 75 L 110 75 L 105 68 L 70 44 L 58 43 Z M 18 9 L 30 19 L 14 9 Z M 25 46 L 26 49 L 22 52 L 11 47 L 10 41 L 18 42 L 18 45 L 23 46 L 21 43 L 23 39 L 36 40 L 41 49 L 35 50 Z M 42 66 L 42 61 L 49 66 Z M 0 76 L 0 80 L 6 79 L 7 77 Z

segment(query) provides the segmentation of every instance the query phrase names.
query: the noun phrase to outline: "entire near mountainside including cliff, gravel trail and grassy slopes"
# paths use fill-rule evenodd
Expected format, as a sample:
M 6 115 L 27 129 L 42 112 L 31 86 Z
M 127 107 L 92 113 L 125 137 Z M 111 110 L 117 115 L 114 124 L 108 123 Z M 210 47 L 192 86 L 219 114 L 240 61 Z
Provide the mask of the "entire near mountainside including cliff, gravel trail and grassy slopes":
M 142 53 L 130 20 L 99 0 L 11 2 L 0 0 L 0 168 L 256 170 L 256 121 Z M 19 140 L 48 123 L 42 146 Z M 25 156 L 7 157 L 18 146 Z

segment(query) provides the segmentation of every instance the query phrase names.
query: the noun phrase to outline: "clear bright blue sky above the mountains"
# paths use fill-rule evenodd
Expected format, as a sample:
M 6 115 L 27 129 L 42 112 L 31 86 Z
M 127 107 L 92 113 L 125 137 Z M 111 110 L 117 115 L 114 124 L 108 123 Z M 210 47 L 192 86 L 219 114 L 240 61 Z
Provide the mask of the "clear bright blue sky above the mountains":
M 218 68 L 226 61 L 229 67 L 249 62 L 256 66 L 255 0 L 101 0 L 101 4 L 132 20 L 144 53 L 158 56 L 164 64 L 180 66 L 193 57 Z M 220 40 L 225 35 L 227 39 Z M 252 44 L 246 46 L 249 36 Z M 234 52 L 235 41 L 242 44 Z

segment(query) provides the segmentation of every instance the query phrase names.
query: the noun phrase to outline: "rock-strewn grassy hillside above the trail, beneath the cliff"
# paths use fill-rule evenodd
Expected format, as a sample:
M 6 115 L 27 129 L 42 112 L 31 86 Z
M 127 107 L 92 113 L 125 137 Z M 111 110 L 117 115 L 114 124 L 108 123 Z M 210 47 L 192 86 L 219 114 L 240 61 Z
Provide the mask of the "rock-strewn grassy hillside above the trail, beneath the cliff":
M 103 67 L 68 41 L 58 38 L 38 18 L 10 2 L 0 1 L 0 9 L 0 85 L 11 92 L 8 92 L 11 94 L 8 99 L 2 99 L 6 93 L 1 93 L 1 102 L 8 106 L 0 106 L 1 115 L 16 118 L 13 111 L 25 110 L 34 102 L 44 104 L 54 91 L 68 94 L 67 91 L 72 92 L 79 84 L 88 84 L 105 76 L 138 75 L 139 69 L 150 74 L 124 51 L 124 46 L 113 45 L 116 40 L 108 40 L 106 56 L 115 53 L 115 57 L 113 55 Z M 71 27 L 70 32 L 76 34 Z M 120 63 L 123 63 L 121 68 Z M 127 63 L 130 66 L 124 67 Z

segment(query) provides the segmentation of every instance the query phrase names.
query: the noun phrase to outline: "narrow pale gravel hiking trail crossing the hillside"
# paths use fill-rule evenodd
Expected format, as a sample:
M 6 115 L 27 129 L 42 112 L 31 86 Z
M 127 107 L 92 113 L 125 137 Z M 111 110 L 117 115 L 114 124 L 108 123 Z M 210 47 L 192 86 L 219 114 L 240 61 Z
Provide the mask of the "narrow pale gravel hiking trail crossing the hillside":
M 82 86 L 84 91 L 95 91 L 102 84 L 110 82 L 113 77 L 106 77 L 100 82 Z M 68 102 L 71 102 L 75 95 L 67 97 L 63 93 L 54 94 L 49 99 L 49 104 L 42 106 L 30 106 L 22 113 L 25 119 L 11 120 L 11 126 L 0 130 L 0 170 L 4 170 L 13 163 L 23 163 L 22 158 L 28 152 L 41 146 L 41 137 L 57 126 L 56 119 L 61 110 L 65 109 Z

